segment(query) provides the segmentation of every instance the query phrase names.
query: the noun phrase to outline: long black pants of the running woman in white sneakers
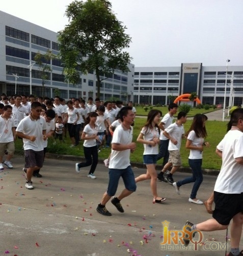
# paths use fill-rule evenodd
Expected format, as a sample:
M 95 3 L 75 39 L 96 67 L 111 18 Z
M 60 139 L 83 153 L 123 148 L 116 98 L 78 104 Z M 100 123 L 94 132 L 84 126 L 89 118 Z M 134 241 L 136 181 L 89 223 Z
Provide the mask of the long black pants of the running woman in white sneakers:
M 80 162 L 78 164 L 78 168 L 91 166 L 89 174 L 94 173 L 95 169 L 96 169 L 96 166 L 98 164 L 98 149 L 97 149 L 97 146 L 84 147 L 84 154 L 85 154 L 86 162 Z

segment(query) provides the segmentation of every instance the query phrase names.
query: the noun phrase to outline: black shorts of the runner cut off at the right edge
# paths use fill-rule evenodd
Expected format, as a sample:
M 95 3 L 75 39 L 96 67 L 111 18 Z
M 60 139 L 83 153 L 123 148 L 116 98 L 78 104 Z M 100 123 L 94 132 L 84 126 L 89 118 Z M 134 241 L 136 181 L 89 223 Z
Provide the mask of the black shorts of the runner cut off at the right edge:
M 221 225 L 229 225 L 236 214 L 243 214 L 243 193 L 223 194 L 214 191 L 214 203 L 212 217 Z

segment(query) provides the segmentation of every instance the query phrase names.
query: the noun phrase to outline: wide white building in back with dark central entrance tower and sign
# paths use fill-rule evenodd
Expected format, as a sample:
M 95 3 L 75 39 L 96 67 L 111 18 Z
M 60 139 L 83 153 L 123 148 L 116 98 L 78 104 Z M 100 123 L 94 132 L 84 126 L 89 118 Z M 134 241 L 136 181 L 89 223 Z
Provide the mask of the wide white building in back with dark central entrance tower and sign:
M 170 96 L 197 92 L 203 104 L 229 105 L 230 87 L 234 105 L 243 97 L 243 66 L 203 66 L 202 63 L 182 63 L 178 67 L 135 67 L 133 101 L 145 104 L 169 104 Z

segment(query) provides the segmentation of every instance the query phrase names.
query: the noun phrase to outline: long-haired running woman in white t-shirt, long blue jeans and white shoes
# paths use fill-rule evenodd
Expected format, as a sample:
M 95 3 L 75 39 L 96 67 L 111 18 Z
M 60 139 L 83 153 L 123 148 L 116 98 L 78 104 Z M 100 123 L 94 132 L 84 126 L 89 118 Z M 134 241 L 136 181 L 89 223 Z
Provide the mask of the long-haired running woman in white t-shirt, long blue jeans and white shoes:
M 175 190 L 180 195 L 179 188 L 181 185 L 194 182 L 193 189 L 188 199 L 191 203 L 203 204 L 203 202 L 196 198 L 199 187 L 203 181 L 202 173 L 202 153 L 203 146 L 209 147 L 208 142 L 204 142 L 204 138 L 207 136 L 205 128 L 205 122 L 207 117 L 204 114 L 196 114 L 190 129 L 186 132 L 187 138 L 185 147 L 190 149 L 190 155 L 188 157 L 189 166 L 192 168 L 193 176 L 187 177 L 183 180 L 179 180 L 173 183 Z

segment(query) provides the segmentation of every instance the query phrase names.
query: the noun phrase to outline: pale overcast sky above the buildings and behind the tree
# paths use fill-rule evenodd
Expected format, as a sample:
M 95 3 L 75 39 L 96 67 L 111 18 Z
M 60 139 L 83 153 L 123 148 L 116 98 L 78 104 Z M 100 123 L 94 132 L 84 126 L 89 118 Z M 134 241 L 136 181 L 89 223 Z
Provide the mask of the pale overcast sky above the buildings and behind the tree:
M 7 0 L 0 10 L 58 32 L 71 0 Z M 136 66 L 243 65 L 242 0 L 110 0 Z

